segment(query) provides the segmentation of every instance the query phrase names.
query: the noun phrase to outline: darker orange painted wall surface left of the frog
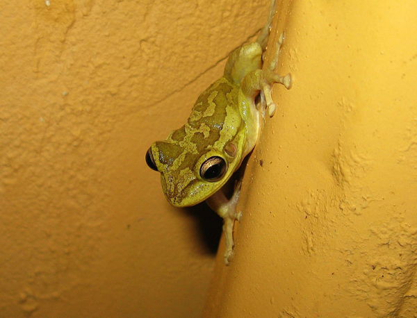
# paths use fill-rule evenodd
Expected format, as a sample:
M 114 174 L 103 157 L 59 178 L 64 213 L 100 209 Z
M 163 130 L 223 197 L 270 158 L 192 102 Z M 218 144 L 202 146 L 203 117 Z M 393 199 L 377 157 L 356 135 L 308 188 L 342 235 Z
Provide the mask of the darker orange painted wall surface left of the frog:
M 201 315 L 221 223 L 170 207 L 145 152 L 268 8 L 0 2 L 0 317 Z

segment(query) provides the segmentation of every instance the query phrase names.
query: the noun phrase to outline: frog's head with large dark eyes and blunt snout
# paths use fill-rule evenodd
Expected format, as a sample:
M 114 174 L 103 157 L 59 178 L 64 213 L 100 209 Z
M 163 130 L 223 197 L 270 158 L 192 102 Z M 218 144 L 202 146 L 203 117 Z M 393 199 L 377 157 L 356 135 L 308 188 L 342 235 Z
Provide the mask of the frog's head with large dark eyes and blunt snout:
M 163 192 L 172 206 L 194 206 L 229 180 L 240 165 L 238 144 L 222 149 L 190 151 L 170 141 L 155 142 L 146 153 L 147 165 L 161 173 Z

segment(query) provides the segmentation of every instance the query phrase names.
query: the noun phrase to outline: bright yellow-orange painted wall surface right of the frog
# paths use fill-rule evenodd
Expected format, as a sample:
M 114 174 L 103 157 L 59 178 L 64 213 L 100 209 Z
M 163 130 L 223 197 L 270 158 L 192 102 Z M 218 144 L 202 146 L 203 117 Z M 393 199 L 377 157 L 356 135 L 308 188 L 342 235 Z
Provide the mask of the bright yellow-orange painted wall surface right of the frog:
M 293 87 L 274 87 L 204 317 L 416 317 L 417 3 L 278 10 Z

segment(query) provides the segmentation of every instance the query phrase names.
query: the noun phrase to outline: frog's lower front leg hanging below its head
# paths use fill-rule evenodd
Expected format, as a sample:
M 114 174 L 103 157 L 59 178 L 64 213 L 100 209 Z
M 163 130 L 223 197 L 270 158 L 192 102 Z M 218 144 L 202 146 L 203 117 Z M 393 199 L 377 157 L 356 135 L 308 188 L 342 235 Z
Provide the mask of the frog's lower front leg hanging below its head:
M 223 218 L 223 232 L 224 239 L 226 240 L 226 251 L 224 251 L 224 263 L 229 265 L 231 258 L 233 257 L 233 228 L 234 221 L 240 221 L 242 214 L 236 212 L 236 205 L 238 203 L 240 187 L 242 181 L 239 181 L 235 187 L 234 194 L 231 199 L 227 199 L 222 190 L 215 192 L 212 196 L 206 199 L 208 206 Z

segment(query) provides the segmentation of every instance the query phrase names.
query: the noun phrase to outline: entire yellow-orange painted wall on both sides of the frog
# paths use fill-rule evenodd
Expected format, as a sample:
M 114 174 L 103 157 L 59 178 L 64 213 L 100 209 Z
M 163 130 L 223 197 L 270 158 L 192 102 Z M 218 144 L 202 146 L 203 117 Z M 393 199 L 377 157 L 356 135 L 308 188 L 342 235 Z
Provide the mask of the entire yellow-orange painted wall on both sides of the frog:
M 414 1 L 279 3 L 229 267 L 145 165 L 268 8 L 0 3 L 0 317 L 414 317 Z

